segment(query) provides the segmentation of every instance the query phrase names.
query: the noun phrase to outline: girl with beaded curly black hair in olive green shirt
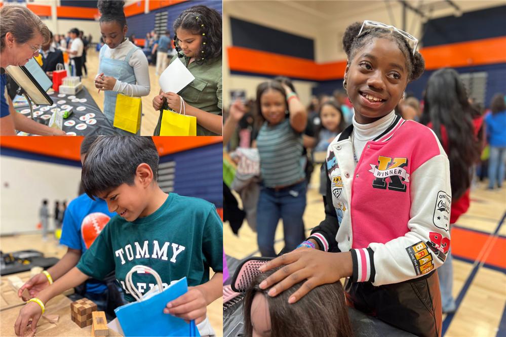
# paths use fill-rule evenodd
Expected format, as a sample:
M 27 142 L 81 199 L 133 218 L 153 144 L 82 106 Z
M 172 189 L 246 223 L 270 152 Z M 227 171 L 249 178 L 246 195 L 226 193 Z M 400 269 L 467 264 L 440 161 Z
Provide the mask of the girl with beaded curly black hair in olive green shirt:
M 160 136 L 163 111 L 179 112 L 181 98 L 185 112 L 197 117 L 197 136 L 219 136 L 223 128 L 222 98 L 222 27 L 218 11 L 204 5 L 184 10 L 174 21 L 174 45 L 177 58 L 195 79 L 177 93 L 163 93 L 153 98 L 153 108 L 160 110 L 154 136 Z

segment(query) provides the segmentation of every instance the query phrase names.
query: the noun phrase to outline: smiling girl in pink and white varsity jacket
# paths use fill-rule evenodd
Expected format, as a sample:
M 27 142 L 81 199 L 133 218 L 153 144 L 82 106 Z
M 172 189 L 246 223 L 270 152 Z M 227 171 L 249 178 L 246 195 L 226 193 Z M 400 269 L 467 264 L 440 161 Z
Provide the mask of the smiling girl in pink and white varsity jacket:
M 260 287 L 277 283 L 269 291 L 276 296 L 307 279 L 290 297 L 295 303 L 346 277 L 349 306 L 418 336 L 438 336 L 436 268 L 450 246 L 449 163 L 434 132 L 394 113 L 424 70 L 417 42 L 378 22 L 346 29 L 343 86 L 355 116 L 327 150 L 326 218 L 302 247 L 260 268 L 286 265 Z

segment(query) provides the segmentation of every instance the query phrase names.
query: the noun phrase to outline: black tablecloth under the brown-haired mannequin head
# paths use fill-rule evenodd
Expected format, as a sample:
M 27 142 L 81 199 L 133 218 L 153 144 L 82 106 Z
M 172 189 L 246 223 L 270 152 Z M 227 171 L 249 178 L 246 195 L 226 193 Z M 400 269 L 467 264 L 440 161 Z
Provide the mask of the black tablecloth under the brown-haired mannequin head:
M 236 268 L 239 266 L 241 261 L 227 255 L 226 262 L 230 277 L 226 280 L 225 284 L 230 284 L 233 273 L 236 271 Z M 238 333 L 242 333 L 244 331 L 242 303 L 234 309 L 235 311 L 231 315 L 226 315 L 226 317 L 225 315 L 223 316 L 224 337 L 237 337 Z M 352 322 L 355 337 L 416 337 L 414 334 L 388 325 L 379 319 L 366 315 L 354 308 L 348 307 L 348 314 L 349 319 Z

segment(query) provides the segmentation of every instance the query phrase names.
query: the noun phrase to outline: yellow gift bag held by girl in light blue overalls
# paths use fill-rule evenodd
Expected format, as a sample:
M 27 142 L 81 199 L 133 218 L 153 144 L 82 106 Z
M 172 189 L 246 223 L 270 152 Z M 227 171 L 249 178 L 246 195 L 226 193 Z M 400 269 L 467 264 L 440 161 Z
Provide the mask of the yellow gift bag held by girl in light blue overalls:
M 141 107 L 140 97 L 118 94 L 114 110 L 114 127 L 136 134 L 140 129 Z

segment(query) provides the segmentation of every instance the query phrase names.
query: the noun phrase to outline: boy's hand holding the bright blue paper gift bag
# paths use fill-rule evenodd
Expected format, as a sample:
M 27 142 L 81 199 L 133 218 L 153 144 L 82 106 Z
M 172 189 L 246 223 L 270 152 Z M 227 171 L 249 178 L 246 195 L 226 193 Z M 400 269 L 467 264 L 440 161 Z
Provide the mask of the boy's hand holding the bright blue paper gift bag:
M 165 314 L 184 319 L 186 323 L 195 320 L 199 324 L 206 319 L 207 303 L 204 293 L 198 287 L 188 287 L 188 292 L 167 303 Z

